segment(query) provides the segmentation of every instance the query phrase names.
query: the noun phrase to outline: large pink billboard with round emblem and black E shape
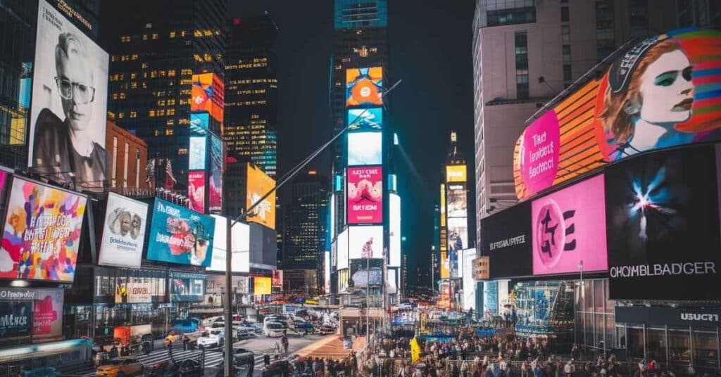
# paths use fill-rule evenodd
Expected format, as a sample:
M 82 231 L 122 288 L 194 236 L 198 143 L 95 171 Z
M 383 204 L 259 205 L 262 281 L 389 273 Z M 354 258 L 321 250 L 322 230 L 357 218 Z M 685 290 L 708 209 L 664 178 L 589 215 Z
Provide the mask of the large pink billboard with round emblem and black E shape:
M 531 216 L 534 275 L 608 268 L 602 174 L 534 200 Z

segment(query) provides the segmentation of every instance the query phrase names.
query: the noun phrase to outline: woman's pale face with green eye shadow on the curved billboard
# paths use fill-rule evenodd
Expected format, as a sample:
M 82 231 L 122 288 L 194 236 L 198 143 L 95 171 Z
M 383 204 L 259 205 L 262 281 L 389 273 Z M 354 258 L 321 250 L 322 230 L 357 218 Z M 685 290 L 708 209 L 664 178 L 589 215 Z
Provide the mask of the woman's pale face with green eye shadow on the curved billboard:
M 679 123 L 691 117 L 694 86 L 691 63 L 681 50 L 664 53 L 641 75 L 641 119 L 648 123 Z

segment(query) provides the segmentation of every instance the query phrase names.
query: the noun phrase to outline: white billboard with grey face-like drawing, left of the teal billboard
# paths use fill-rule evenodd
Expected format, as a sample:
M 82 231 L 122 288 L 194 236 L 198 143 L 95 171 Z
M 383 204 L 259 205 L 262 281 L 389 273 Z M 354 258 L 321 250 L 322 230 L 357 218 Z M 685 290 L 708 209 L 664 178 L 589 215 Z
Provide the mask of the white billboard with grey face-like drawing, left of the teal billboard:
M 146 203 L 109 192 L 98 264 L 140 267 L 147 221 Z

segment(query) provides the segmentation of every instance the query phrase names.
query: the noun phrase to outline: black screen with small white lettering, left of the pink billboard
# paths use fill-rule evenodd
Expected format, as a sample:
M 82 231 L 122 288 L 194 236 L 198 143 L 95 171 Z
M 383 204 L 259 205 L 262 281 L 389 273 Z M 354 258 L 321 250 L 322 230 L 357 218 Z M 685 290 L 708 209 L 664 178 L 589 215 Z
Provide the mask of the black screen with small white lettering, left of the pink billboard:
M 479 245 L 488 257 L 491 279 L 532 275 L 531 202 L 482 218 Z

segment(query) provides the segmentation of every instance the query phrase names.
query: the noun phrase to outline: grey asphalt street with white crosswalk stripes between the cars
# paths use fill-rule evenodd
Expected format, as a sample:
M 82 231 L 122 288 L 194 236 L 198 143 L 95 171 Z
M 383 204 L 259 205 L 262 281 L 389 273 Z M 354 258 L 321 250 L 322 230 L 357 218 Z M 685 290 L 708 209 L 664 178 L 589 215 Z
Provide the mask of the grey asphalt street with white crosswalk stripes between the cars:
M 316 340 L 320 340 L 326 336 L 335 336 L 335 335 L 305 335 L 300 336 L 297 334 L 293 334 L 291 332 L 288 332 L 288 352 L 293 353 L 298 350 L 301 350 L 301 348 L 306 347 L 306 345 L 311 344 L 312 342 L 315 342 Z M 242 340 L 241 342 L 236 342 L 236 346 L 243 347 L 247 350 L 251 350 L 255 353 L 255 373 L 254 376 L 261 376 L 261 371 L 263 367 L 263 355 L 266 352 L 273 352 L 275 349 L 275 344 L 278 343 L 280 345 L 280 338 L 267 338 L 267 337 L 257 337 L 252 340 Z M 181 347 L 174 347 L 172 355 L 174 360 L 185 360 L 187 358 L 193 358 L 198 359 L 201 357 L 200 350 L 182 350 L 182 345 L 179 345 Z M 223 362 L 223 352 L 222 348 L 208 348 L 205 350 L 205 376 L 216 376 L 218 371 L 221 369 L 221 363 Z M 147 367 L 151 367 L 152 365 L 156 363 L 160 363 L 165 360 L 169 360 L 170 355 L 166 348 L 164 347 L 158 347 L 156 350 L 150 352 L 149 355 L 136 355 L 136 359 L 143 363 L 143 365 Z M 246 371 L 244 368 L 242 371 Z M 92 368 L 73 368 L 69 370 L 63 370 L 63 376 L 84 376 L 84 377 L 92 377 L 95 376 L 95 371 Z M 244 376 L 244 374 L 242 374 Z

